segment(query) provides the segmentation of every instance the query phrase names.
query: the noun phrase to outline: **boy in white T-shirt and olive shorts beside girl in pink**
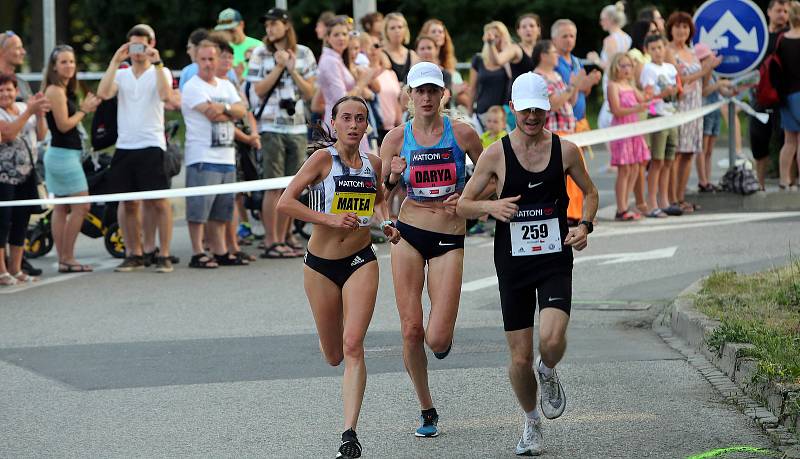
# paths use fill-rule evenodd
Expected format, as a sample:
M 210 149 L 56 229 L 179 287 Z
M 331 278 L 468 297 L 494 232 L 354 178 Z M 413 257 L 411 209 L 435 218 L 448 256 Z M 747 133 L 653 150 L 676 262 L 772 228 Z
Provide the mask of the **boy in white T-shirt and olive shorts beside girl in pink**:
M 653 102 L 648 118 L 669 115 L 675 112 L 672 101 L 677 98 L 680 79 L 678 70 L 669 62 L 664 62 L 667 41 L 662 35 L 645 38 L 644 49 L 651 61 L 642 68 L 639 83 L 642 88 L 653 93 Z M 678 128 L 665 129 L 650 134 L 650 154 L 652 156 L 647 171 L 647 216 L 663 218 L 667 215 L 681 215 L 680 207 L 669 203 L 669 171 L 675 159 L 675 146 L 678 142 Z

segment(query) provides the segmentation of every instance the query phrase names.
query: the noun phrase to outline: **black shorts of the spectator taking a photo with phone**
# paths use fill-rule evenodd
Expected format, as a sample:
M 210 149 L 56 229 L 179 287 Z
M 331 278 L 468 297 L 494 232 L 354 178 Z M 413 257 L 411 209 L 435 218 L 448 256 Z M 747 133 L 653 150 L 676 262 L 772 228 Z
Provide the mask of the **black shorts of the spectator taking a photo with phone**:
M 112 193 L 168 189 L 170 181 L 164 170 L 164 150 L 159 147 L 117 148 L 107 179 Z

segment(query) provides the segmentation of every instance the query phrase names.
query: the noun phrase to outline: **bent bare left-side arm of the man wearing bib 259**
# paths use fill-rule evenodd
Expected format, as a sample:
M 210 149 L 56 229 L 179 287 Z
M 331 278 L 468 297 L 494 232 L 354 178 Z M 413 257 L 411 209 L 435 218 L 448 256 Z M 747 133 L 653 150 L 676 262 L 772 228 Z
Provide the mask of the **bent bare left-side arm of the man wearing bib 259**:
M 475 172 L 467 182 L 461 198 L 458 200 L 456 211 L 464 218 L 478 218 L 482 215 L 491 214 L 495 218 L 508 221 L 517 212 L 517 205 L 514 203 L 519 196 L 512 198 L 498 199 L 496 201 L 480 199 L 484 190 L 490 185 L 493 179 L 497 179 L 498 165 L 503 161 L 503 147 L 501 143 L 494 143 L 481 154 L 480 159 L 475 164 Z

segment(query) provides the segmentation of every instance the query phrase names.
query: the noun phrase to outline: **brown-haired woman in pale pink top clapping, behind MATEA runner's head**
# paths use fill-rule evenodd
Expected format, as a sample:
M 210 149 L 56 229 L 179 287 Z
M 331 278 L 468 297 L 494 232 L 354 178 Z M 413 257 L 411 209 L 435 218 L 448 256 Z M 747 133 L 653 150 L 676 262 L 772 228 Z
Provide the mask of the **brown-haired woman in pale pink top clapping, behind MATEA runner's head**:
M 344 16 L 337 16 L 327 24 L 328 32 L 325 35 L 325 47 L 319 58 L 319 77 L 317 84 L 325 99 L 324 126 L 333 132 L 331 123 L 331 110 L 333 104 L 344 96 L 359 96 L 369 91 L 370 72 L 365 72 L 364 77 L 356 80 L 350 73 L 350 56 L 348 45 L 350 43 L 350 27 Z M 365 135 L 361 139 L 361 151 L 369 151 L 369 143 Z

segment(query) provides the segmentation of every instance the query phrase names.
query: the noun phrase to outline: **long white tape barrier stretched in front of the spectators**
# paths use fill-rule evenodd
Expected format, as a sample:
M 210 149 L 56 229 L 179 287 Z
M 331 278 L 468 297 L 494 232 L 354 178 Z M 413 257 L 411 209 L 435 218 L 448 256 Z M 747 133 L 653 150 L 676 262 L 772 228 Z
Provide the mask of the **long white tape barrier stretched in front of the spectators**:
M 734 103 L 736 103 L 737 105 L 741 104 L 750 109 L 750 107 L 747 106 L 746 104 L 738 102 L 736 101 L 736 99 L 733 100 Z M 714 104 L 709 104 L 700 108 L 696 108 L 693 110 L 689 110 L 686 112 L 676 113 L 674 115 L 663 116 L 659 118 L 652 118 L 645 121 L 639 121 L 637 123 L 613 126 L 606 129 L 596 129 L 593 131 L 581 132 L 579 134 L 571 134 L 568 136 L 564 136 L 564 138 L 571 142 L 575 142 L 575 144 L 577 144 L 579 147 L 586 147 L 589 145 L 606 143 L 611 140 L 624 139 L 627 137 L 649 134 L 651 132 L 658 132 L 664 129 L 677 127 L 694 119 L 700 118 L 708 113 L 713 112 L 714 110 L 719 109 L 723 104 L 727 102 L 728 101 L 725 100 Z M 467 158 L 467 161 L 469 161 L 469 158 Z M 204 196 L 209 194 L 246 193 L 249 191 L 280 190 L 286 188 L 289 185 L 289 182 L 291 182 L 292 178 L 294 178 L 294 176 L 277 177 L 264 180 L 253 180 L 251 182 L 226 183 L 224 185 L 207 185 L 207 186 L 198 186 L 191 188 L 174 188 L 170 190 L 99 194 L 92 196 L 72 196 L 66 198 L 26 199 L 20 201 L 0 201 L 0 207 L 50 206 L 57 204 L 83 204 L 91 202 L 140 201 L 144 199 L 183 198 L 188 196 Z

